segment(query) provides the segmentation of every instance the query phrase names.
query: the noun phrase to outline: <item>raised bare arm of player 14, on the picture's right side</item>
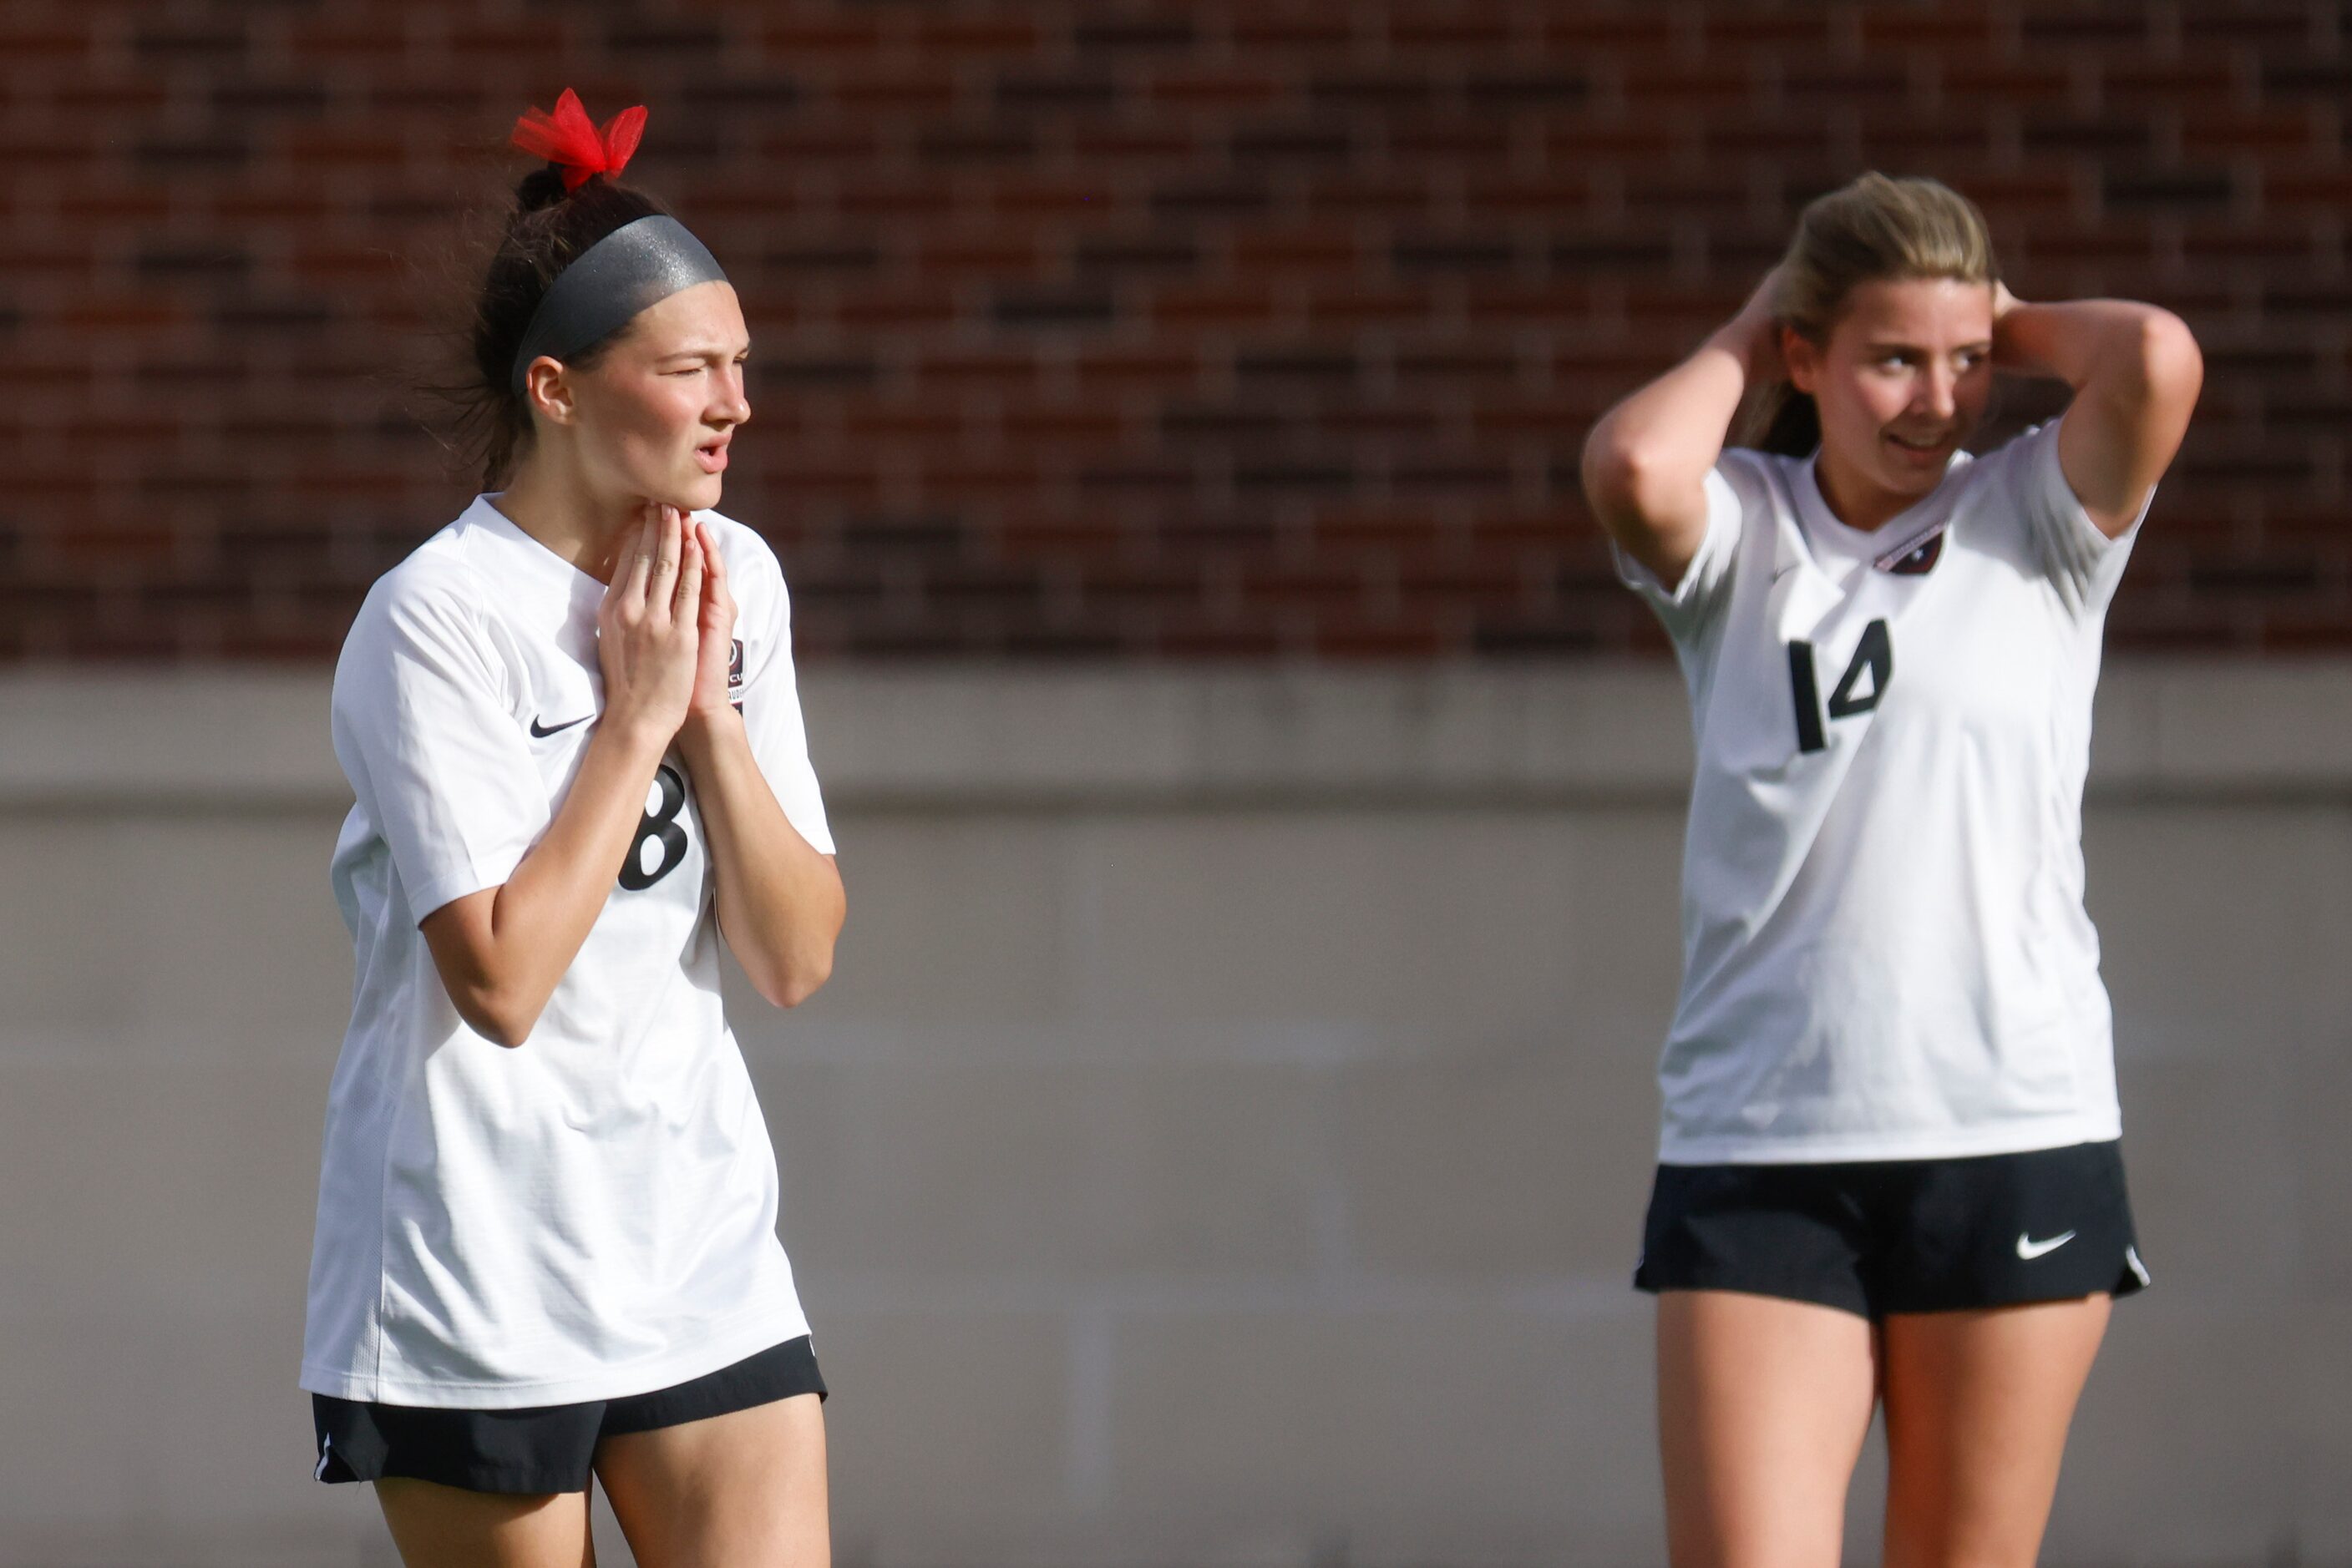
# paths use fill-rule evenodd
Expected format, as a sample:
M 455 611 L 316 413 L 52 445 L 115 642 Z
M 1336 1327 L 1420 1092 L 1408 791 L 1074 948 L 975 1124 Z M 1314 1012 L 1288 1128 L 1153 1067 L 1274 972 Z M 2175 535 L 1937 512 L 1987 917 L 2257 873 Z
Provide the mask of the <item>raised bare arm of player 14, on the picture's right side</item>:
M 2058 428 L 2058 468 L 2074 498 L 2114 538 L 2180 451 L 2204 355 L 2171 310 L 2124 299 L 2027 306 L 1994 299 L 1992 362 L 2058 376 L 2074 402 Z

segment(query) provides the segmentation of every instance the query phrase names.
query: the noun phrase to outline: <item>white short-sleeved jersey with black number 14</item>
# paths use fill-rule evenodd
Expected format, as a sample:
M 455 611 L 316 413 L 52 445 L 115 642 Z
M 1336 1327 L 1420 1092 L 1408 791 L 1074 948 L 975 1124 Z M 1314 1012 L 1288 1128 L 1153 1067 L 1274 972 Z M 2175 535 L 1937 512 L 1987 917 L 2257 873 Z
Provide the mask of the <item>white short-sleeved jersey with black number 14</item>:
M 2110 541 L 2058 425 L 1955 458 L 1875 534 L 1813 463 L 1726 451 L 1665 621 L 1698 769 L 1665 1164 L 2117 1138 L 2082 783 Z

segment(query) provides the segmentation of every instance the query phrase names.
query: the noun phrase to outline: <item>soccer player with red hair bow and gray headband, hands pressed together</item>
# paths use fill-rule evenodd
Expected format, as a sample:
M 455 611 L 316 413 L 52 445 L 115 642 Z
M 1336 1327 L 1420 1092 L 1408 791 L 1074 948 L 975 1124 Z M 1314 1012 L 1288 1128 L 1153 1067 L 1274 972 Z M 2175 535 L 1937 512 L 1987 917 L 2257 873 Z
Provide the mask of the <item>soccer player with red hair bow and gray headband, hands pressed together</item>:
M 720 994 L 826 983 L 842 926 L 783 571 L 713 510 L 750 418 L 717 259 L 546 158 L 473 308 L 482 491 L 376 581 L 334 675 L 358 964 L 301 1385 L 320 1481 L 407 1563 L 823 1563 L 826 1382 Z

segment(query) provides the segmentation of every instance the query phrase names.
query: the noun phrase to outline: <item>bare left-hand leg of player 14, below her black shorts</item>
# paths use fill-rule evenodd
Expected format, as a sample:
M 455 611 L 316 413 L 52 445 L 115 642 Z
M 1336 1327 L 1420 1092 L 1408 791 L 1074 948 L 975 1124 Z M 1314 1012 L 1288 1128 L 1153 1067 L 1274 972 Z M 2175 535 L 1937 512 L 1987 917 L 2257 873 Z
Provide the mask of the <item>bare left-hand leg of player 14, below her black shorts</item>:
M 1877 1361 L 1870 1321 L 1769 1295 L 1658 1298 L 1675 1568 L 1837 1568 Z

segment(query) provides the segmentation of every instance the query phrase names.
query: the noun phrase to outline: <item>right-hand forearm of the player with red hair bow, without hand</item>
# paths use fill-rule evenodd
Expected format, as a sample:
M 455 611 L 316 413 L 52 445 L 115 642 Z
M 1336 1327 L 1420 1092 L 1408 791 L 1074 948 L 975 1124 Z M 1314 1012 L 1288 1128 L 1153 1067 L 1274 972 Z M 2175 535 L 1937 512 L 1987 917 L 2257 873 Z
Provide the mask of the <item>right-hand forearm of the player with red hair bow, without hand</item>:
M 795 1006 L 833 973 L 842 877 L 783 816 L 741 715 L 689 717 L 677 750 L 710 844 L 720 931 L 760 994 Z

